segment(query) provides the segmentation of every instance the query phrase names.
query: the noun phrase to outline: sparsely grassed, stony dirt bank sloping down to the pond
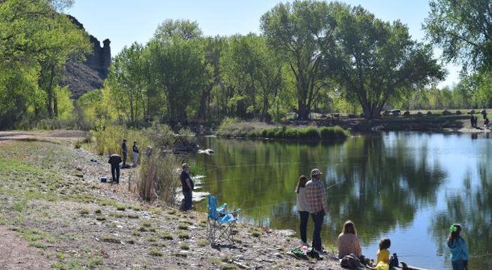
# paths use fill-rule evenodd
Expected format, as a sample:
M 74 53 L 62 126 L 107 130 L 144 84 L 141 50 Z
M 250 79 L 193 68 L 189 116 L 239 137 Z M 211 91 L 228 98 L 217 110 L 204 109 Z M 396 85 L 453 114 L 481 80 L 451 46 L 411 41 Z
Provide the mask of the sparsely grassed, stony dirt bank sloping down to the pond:
M 71 136 L 8 136 L 14 139 L 0 151 L 0 225 L 17 235 L 6 248 L 27 247 L 12 249 L 2 269 L 18 269 L 26 256 L 53 269 L 342 269 L 333 255 L 290 257 L 297 237 L 248 224 L 239 224 L 234 247 L 212 248 L 206 214 L 142 203 L 128 191 L 134 170 L 122 169 L 119 186 L 101 184 L 105 158 L 75 149 Z

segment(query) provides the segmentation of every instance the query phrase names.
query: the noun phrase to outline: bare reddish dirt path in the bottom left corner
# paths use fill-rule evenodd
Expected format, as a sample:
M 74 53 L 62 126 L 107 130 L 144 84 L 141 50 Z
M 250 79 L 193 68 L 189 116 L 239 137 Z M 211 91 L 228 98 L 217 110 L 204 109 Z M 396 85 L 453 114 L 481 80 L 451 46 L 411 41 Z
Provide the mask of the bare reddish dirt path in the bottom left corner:
M 14 231 L 0 226 L 0 269 L 49 269 L 51 262 L 39 254 L 37 248 L 27 245 Z

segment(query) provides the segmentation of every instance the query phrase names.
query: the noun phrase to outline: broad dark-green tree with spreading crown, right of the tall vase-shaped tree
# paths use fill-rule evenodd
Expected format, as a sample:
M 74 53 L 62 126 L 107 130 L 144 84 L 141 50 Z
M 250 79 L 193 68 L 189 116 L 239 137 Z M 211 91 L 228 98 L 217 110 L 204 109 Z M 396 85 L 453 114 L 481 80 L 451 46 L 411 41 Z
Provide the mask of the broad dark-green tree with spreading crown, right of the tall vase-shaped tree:
M 444 77 L 432 47 L 410 39 L 401 22 L 383 22 L 361 6 L 337 6 L 336 51 L 326 62 L 366 118 L 379 117 L 390 100 Z M 328 68 L 325 68 L 328 70 Z

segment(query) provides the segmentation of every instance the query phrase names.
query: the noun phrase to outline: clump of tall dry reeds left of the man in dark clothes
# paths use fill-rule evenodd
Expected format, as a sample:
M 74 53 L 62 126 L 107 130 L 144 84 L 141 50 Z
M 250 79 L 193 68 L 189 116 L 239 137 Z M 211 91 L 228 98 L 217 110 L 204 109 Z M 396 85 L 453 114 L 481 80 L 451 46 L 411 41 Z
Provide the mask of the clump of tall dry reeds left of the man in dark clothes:
M 153 155 L 140 168 L 137 184 L 140 197 L 150 202 L 160 200 L 168 205 L 174 203 L 179 187 L 177 168 L 179 162 L 174 156 Z

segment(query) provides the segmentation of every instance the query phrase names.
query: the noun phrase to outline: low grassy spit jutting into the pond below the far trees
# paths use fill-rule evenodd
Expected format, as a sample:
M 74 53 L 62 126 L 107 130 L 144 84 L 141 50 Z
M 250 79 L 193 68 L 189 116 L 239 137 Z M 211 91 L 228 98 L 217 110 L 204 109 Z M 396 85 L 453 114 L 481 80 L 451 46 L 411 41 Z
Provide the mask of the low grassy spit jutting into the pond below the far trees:
M 350 132 L 342 127 L 276 127 L 258 122 L 224 121 L 217 136 L 329 141 L 347 139 Z

